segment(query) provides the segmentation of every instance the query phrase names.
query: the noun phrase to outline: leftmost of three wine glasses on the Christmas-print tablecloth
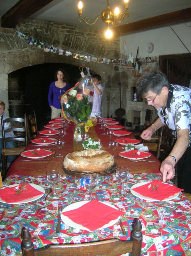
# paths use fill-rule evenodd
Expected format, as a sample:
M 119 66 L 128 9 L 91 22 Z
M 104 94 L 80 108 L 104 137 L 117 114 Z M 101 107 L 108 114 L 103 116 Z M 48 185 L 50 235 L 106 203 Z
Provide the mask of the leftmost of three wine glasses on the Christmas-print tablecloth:
M 61 181 L 62 175 L 60 171 L 50 170 L 46 172 L 47 181 L 53 184 L 53 193 L 50 194 L 51 199 L 58 199 L 61 194 L 56 193 L 56 184 Z

